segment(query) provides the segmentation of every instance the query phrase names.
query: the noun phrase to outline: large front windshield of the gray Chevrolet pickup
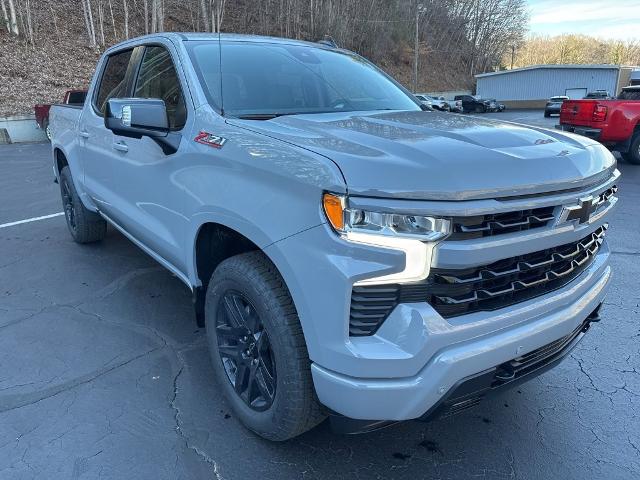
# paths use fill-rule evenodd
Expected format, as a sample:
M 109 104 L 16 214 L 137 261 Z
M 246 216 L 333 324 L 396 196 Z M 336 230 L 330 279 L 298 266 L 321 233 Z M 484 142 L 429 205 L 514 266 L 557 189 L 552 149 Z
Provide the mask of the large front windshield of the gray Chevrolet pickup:
M 209 101 L 224 107 L 228 116 L 420 110 L 394 81 L 357 55 L 302 45 L 223 42 L 220 59 L 218 42 L 189 42 L 188 48 Z

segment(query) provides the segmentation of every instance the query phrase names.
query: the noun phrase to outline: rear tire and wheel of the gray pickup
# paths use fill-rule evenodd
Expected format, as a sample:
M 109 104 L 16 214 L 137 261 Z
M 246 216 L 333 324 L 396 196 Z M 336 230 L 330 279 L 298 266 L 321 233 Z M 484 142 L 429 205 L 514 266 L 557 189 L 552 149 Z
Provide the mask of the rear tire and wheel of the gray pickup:
M 67 228 L 73 240 L 76 243 L 93 243 L 102 240 L 107 234 L 107 222 L 97 213 L 87 210 L 82 204 L 68 166 L 60 172 L 60 195 Z

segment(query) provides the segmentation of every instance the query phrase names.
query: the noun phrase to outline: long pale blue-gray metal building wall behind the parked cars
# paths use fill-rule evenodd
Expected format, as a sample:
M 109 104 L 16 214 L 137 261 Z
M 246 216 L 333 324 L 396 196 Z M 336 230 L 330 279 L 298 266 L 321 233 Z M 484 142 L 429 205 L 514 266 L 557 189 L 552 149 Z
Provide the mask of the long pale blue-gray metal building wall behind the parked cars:
M 477 78 L 477 94 L 501 101 L 546 100 L 569 88 L 615 94 L 618 68 L 536 68 Z

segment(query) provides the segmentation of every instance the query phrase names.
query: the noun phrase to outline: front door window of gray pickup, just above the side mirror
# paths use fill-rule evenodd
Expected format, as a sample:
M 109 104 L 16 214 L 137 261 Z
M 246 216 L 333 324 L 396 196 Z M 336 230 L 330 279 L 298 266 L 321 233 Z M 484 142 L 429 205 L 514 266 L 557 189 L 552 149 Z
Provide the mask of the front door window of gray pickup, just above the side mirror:
M 145 49 L 134 97 L 164 100 L 171 129 L 184 127 L 187 121 L 184 96 L 171 55 L 164 47 Z

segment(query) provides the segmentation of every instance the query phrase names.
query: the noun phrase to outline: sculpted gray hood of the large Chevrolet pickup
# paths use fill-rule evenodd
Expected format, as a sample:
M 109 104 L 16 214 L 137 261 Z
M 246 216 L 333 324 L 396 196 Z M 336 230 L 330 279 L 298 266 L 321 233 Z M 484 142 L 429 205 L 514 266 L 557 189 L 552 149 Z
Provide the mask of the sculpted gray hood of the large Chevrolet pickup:
M 230 120 L 323 155 L 350 194 L 463 200 L 593 184 L 614 157 L 597 142 L 552 130 L 437 112 L 350 112 Z

